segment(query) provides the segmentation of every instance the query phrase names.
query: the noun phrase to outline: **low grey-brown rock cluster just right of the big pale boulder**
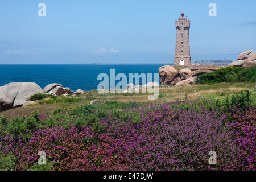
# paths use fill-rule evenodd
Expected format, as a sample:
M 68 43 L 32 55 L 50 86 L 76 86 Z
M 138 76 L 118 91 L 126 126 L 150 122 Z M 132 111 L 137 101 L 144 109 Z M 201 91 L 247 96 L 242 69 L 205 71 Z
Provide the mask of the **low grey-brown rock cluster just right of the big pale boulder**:
M 61 85 L 61 84 L 49 84 L 43 89 L 43 91 L 44 91 L 44 93 L 55 94 L 56 96 L 74 93 L 68 87 L 63 88 L 63 85 Z

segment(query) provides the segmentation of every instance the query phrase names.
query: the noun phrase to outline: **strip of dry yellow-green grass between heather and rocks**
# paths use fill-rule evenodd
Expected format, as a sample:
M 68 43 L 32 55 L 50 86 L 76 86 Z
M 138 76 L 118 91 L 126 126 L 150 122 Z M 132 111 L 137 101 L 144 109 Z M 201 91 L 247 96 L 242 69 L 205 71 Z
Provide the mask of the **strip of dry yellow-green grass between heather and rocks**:
M 99 94 L 97 90 L 86 92 L 79 96 L 59 96 L 56 99 L 44 98 L 44 100 L 36 101 L 33 105 L 10 109 L 0 113 L 8 117 L 16 117 L 19 115 L 29 115 L 33 111 L 38 110 L 40 113 L 51 112 L 63 107 L 74 107 L 88 104 L 90 101 L 118 101 L 118 102 L 140 102 L 143 104 L 164 104 L 174 101 L 185 100 L 201 100 L 201 99 L 224 99 L 226 96 L 238 94 L 241 90 L 251 90 L 251 99 L 256 104 L 256 85 L 255 83 L 221 83 L 213 85 L 191 85 L 191 86 L 160 86 L 159 98 L 157 100 L 148 100 L 150 94 Z M 86 97 L 86 98 L 82 98 Z

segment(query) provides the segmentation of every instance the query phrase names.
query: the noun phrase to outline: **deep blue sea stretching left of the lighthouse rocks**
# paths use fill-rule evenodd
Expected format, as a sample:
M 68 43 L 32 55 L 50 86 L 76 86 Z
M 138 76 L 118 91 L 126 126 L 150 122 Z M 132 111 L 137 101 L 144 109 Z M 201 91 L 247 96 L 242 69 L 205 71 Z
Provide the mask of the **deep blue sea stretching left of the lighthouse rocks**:
M 110 69 L 118 73 L 158 73 L 161 64 L 136 65 L 95 65 L 95 64 L 0 64 L 0 86 L 10 82 L 35 82 L 42 89 L 52 83 L 69 87 L 76 92 L 77 89 L 96 90 L 102 80 L 97 80 L 100 73 L 106 73 L 110 81 Z M 117 83 L 119 81 L 115 81 Z M 129 81 L 127 80 L 127 83 Z M 158 79 L 159 82 L 159 79 Z M 109 84 L 110 85 L 110 84 Z

